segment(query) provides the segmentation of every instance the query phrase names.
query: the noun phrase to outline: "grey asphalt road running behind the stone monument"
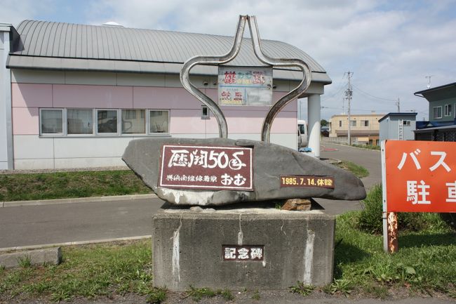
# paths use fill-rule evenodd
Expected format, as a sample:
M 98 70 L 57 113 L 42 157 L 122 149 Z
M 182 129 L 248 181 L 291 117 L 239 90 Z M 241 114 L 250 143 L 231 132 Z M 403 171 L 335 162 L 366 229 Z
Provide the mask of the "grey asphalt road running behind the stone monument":
M 380 183 L 380 152 L 324 146 L 333 151 L 323 151 L 321 157 L 368 168 L 370 176 L 363 179 L 366 187 Z M 330 214 L 361 208 L 358 201 L 317 201 Z M 0 248 L 148 235 L 151 217 L 161 204 L 160 199 L 136 199 L 0 208 Z

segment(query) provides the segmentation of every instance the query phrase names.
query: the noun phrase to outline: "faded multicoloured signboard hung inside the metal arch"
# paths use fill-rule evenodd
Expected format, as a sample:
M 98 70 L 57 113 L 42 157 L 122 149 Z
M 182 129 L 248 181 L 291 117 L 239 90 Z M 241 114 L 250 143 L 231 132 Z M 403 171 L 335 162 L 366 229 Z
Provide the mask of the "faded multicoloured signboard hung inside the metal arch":
M 219 67 L 219 105 L 271 105 L 272 67 Z

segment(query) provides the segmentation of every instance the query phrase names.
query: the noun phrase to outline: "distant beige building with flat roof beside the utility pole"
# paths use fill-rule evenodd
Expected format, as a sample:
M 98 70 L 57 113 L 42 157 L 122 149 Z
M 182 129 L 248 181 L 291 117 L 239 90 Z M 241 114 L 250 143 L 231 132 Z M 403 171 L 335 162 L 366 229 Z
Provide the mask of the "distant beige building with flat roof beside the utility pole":
M 378 120 L 384 114 L 351 114 L 351 143 L 357 145 L 379 145 L 380 124 Z M 348 140 L 349 121 L 347 114 L 338 114 L 329 121 L 330 138 L 346 138 Z

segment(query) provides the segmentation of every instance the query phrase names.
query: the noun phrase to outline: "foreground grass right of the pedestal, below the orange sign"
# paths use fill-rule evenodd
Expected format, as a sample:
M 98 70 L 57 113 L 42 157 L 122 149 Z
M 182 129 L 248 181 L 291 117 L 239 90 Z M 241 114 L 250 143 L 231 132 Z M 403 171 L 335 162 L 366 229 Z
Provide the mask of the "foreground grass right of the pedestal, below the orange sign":
M 394 254 L 384 253 L 381 235 L 357 228 L 360 216 L 361 211 L 353 211 L 337 217 L 330 293 L 356 290 L 378 298 L 394 289 L 456 294 L 456 234 L 437 214 L 420 217 L 422 230 L 400 231 Z

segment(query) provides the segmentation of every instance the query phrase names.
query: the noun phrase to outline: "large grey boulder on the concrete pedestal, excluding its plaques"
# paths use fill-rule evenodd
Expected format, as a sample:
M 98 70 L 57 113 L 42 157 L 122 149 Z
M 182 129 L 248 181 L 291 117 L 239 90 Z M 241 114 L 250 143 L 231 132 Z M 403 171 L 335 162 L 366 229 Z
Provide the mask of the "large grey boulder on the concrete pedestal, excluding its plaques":
M 253 147 L 254 191 L 233 190 L 175 190 L 157 187 L 161 145 L 219 145 Z M 171 204 L 222 205 L 239 201 L 269 199 L 326 199 L 358 200 L 366 197 L 361 180 L 353 174 L 280 145 L 254 140 L 224 138 L 146 138 L 130 141 L 123 161 L 161 198 Z M 333 176 L 335 188 L 280 187 L 281 175 Z

